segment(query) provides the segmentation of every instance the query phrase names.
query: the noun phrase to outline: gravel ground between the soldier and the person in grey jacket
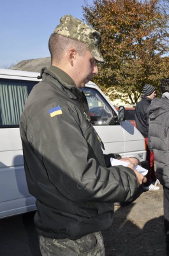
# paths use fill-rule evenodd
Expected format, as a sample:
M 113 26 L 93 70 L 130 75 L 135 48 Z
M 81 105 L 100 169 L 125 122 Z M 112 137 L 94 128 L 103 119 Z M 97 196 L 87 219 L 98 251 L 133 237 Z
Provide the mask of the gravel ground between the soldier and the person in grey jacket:
M 138 189 L 131 204 L 115 204 L 114 223 L 103 234 L 106 256 L 165 255 L 163 187 Z

